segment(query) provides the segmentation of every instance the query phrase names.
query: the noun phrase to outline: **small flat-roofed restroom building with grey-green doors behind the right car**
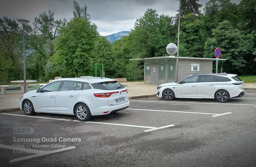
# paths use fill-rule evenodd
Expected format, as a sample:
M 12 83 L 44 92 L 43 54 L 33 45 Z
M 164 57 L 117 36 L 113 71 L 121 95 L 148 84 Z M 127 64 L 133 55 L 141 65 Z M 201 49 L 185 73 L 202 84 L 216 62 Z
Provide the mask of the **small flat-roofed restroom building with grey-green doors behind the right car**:
M 175 81 L 175 56 L 134 58 L 144 61 L 144 83 L 163 84 Z M 226 59 L 220 59 L 226 60 Z M 212 61 L 215 58 L 179 57 L 179 75 L 181 80 L 191 74 L 212 73 Z

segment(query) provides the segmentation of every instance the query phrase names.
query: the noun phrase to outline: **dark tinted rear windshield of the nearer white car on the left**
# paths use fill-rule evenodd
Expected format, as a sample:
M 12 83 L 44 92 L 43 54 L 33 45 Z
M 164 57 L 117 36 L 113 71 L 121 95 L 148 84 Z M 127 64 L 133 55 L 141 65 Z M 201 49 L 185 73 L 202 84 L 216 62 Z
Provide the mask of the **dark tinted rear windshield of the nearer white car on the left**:
M 102 90 L 116 90 L 124 88 L 123 85 L 118 83 L 117 81 L 108 81 L 108 82 L 101 82 L 101 83 L 92 83 L 92 86 L 95 89 L 102 89 Z

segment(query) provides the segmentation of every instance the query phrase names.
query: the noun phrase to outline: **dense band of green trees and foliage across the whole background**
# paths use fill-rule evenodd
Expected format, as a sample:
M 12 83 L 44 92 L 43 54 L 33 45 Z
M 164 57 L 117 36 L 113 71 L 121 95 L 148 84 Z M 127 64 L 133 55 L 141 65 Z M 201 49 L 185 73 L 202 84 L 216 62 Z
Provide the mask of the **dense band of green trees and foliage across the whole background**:
M 255 0 L 209 0 L 203 12 L 198 0 L 181 2 L 180 56 L 214 58 L 219 47 L 227 59 L 219 64 L 223 72 L 256 74 Z M 27 79 L 94 76 L 94 64 L 104 63 L 106 77 L 143 80 L 143 62 L 129 59 L 167 56 L 167 44 L 177 44 L 177 15 L 148 9 L 129 36 L 111 44 L 90 21 L 86 5 L 73 2 L 73 7 L 68 22 L 48 11 L 35 17 L 33 26 L 25 26 Z M 23 78 L 21 33 L 15 20 L 0 18 L 1 83 Z

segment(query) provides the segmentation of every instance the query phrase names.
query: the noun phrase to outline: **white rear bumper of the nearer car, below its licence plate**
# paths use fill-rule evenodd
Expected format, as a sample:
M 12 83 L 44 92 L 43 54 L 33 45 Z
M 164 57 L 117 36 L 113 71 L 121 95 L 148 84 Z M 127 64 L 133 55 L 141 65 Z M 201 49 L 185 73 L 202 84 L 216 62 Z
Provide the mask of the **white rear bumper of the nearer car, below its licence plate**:
M 128 100 L 128 102 L 126 102 L 126 103 L 118 104 L 115 106 L 108 106 L 108 105 L 98 106 L 94 110 L 91 111 L 91 115 L 92 116 L 107 115 L 112 112 L 124 110 L 124 109 L 128 108 L 129 105 L 130 105 L 130 101 Z M 109 112 L 103 113 L 103 112 L 107 112 L 107 111 L 109 111 Z

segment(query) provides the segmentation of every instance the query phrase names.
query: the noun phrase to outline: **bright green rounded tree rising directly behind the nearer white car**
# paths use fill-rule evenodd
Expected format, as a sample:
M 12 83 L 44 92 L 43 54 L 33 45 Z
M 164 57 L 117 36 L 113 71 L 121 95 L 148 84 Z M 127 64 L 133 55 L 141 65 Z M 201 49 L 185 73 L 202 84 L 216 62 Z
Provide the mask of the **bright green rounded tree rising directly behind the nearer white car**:
M 55 54 L 50 58 L 59 69 L 65 68 L 78 77 L 78 72 L 88 75 L 90 55 L 96 37 L 97 26 L 87 18 L 75 17 L 60 30 L 55 43 Z

